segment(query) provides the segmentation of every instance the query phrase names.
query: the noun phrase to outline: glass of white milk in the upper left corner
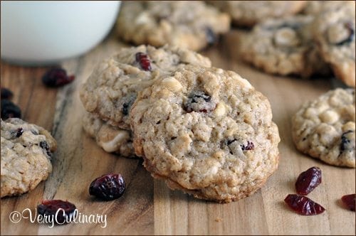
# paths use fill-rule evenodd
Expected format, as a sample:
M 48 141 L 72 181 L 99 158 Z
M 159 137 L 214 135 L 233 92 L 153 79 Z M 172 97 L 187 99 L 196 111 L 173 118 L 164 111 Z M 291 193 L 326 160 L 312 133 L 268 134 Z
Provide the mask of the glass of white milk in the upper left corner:
M 1 59 L 48 65 L 88 52 L 108 35 L 120 1 L 1 1 Z

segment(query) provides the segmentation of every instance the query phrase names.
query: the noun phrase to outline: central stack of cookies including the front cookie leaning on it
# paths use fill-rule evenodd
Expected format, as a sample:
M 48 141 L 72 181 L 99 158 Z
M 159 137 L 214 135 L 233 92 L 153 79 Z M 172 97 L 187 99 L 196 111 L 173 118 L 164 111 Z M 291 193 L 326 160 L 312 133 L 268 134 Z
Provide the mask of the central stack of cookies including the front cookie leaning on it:
M 122 48 L 80 91 L 84 129 L 169 188 L 221 203 L 251 195 L 276 171 L 278 128 L 261 92 L 210 65 L 173 46 Z

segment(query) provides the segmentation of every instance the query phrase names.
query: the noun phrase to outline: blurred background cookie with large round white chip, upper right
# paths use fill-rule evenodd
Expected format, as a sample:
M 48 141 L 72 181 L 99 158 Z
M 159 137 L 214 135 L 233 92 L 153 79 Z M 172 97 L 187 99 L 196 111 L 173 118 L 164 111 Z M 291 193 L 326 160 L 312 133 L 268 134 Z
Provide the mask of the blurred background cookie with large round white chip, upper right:
M 289 16 L 259 23 L 241 41 L 241 56 L 257 68 L 278 75 L 328 74 L 313 41 L 313 16 Z

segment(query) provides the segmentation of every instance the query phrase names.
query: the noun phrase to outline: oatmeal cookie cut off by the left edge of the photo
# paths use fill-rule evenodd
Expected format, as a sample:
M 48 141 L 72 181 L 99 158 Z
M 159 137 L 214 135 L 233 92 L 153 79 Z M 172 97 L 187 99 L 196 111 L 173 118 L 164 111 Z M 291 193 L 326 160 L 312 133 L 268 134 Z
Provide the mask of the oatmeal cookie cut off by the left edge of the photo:
M 51 134 L 19 118 L 1 119 L 1 198 L 27 193 L 52 171 Z

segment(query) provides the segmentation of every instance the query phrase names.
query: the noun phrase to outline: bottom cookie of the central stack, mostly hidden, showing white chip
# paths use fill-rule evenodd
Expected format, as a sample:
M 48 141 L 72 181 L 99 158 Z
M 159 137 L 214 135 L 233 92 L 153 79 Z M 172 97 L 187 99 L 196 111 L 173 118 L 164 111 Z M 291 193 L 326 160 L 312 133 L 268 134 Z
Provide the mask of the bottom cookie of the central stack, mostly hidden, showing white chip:
M 104 151 L 125 157 L 135 156 L 130 131 L 113 127 L 100 119 L 98 115 L 89 112 L 86 112 L 83 117 L 83 129 Z

